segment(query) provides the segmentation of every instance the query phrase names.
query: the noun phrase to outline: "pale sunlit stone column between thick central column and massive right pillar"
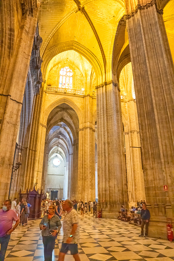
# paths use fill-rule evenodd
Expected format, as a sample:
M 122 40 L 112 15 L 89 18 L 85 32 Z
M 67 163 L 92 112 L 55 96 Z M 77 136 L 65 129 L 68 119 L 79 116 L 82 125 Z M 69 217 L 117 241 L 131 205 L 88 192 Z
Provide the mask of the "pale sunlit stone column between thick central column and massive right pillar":
M 125 126 L 125 148 L 129 205 L 137 206 L 137 200 L 145 199 L 144 173 L 141 158 L 140 131 L 137 105 L 134 99 L 126 102 L 128 126 Z

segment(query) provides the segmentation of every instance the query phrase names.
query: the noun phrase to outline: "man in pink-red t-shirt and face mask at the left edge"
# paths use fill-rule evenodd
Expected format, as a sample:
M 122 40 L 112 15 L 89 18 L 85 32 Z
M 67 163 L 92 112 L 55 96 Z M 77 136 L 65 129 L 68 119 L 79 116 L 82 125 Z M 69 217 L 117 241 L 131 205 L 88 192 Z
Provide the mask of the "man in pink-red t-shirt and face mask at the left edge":
M 4 261 L 8 243 L 10 240 L 10 234 L 15 230 L 15 228 L 20 223 L 20 219 L 17 217 L 17 214 L 11 208 L 11 200 L 5 200 L 3 209 L 0 209 L 0 260 Z M 14 227 L 13 220 L 16 222 Z

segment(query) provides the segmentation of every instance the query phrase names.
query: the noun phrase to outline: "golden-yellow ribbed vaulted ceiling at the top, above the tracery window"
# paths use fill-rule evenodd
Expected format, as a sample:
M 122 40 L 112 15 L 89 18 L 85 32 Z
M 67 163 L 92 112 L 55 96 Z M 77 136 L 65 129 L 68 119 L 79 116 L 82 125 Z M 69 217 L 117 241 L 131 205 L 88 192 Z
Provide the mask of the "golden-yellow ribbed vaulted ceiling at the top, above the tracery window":
M 96 57 L 101 71 L 111 68 L 112 49 L 124 1 L 45 0 L 39 26 L 43 38 L 41 55 L 46 66 L 66 45 L 77 45 Z M 67 50 L 70 48 L 67 48 Z

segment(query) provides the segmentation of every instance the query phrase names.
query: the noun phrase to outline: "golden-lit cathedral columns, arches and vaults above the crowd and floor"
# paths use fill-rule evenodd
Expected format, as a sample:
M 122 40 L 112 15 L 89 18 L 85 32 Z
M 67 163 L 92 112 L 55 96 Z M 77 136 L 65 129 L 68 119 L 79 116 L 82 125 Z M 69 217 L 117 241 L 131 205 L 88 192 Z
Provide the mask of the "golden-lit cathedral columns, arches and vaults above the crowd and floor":
M 34 187 L 114 219 L 143 199 L 167 238 L 173 22 L 174 0 L 1 1 L 0 204 Z

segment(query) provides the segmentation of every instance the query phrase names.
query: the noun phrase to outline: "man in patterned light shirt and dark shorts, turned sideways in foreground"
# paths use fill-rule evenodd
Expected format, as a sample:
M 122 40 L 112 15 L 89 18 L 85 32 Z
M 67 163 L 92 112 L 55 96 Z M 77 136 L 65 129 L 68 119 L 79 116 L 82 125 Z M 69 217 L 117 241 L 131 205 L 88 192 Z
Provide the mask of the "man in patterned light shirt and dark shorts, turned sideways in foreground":
M 80 241 L 78 213 L 73 209 L 72 201 L 68 199 L 63 204 L 63 210 L 67 213 L 63 223 L 64 237 L 58 261 L 64 261 L 68 250 L 73 255 L 75 261 L 80 261 L 78 253 L 78 243 Z

